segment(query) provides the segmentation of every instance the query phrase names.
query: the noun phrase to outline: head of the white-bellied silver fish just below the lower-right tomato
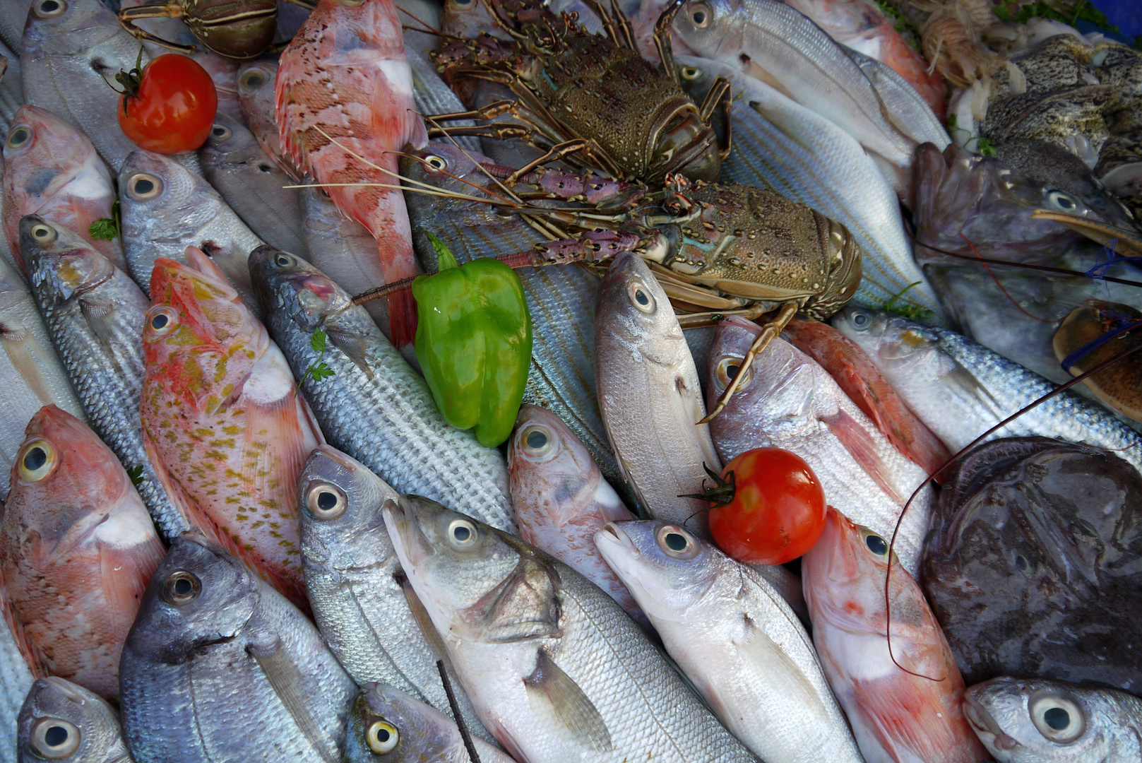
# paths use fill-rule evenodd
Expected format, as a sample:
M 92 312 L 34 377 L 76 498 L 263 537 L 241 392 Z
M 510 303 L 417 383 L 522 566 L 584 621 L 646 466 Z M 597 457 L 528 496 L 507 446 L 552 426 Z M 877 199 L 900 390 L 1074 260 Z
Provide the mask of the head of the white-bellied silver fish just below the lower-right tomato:
M 659 620 L 684 620 L 722 571 L 719 555 L 676 524 L 656 521 L 608 522 L 595 546 L 637 600 Z

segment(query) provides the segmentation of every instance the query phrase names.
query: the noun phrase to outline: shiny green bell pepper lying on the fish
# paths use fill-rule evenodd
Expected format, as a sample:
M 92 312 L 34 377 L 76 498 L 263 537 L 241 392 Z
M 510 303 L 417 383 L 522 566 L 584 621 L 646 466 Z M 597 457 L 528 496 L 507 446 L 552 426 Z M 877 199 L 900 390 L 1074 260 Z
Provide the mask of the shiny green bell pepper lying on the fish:
M 494 448 L 512 434 L 531 364 L 531 315 L 520 276 L 498 259 L 460 266 L 436 236 L 440 272 L 412 282 L 416 351 L 436 407 Z

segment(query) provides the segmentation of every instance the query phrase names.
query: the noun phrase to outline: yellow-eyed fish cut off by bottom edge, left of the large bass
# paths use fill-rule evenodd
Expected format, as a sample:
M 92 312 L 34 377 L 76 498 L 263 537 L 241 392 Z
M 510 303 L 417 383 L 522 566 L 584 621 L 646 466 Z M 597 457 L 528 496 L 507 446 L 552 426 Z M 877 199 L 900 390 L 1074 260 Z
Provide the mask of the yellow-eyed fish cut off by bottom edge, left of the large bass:
M 515 763 L 498 747 L 472 739 L 482 763 Z M 346 763 L 469 763 L 456 721 L 400 689 L 365 683 L 353 700 Z

